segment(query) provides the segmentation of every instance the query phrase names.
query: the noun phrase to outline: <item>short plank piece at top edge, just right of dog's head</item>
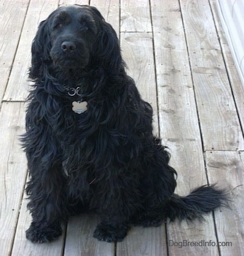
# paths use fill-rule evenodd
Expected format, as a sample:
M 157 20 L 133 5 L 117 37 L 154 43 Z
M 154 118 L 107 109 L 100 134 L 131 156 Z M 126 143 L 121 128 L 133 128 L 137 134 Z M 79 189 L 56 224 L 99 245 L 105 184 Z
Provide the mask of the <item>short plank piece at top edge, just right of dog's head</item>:
M 149 0 L 122 0 L 121 28 L 123 32 L 151 32 Z

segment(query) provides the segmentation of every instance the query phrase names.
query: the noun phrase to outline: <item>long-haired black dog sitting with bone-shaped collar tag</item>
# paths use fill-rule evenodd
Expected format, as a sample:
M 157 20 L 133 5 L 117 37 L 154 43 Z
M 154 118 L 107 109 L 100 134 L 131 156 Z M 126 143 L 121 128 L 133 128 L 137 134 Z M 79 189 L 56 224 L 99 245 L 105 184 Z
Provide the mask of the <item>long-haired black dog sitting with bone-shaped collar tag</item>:
M 152 108 L 124 67 L 116 33 L 95 7 L 60 7 L 41 22 L 23 135 L 30 241 L 56 239 L 60 224 L 84 211 L 99 214 L 94 236 L 110 242 L 130 225 L 192 220 L 224 205 L 214 186 L 173 194 L 176 171 L 152 135 Z

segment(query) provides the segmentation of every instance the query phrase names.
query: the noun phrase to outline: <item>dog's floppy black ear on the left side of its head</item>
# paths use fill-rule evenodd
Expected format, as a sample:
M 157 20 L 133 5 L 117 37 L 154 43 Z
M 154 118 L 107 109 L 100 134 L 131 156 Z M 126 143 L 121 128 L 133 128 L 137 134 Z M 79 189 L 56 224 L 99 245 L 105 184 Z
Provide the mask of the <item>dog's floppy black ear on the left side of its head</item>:
M 48 20 L 41 21 L 37 34 L 32 42 L 32 59 L 29 77 L 33 80 L 40 78 L 43 73 L 43 64 L 50 60 L 51 50 L 50 29 Z

